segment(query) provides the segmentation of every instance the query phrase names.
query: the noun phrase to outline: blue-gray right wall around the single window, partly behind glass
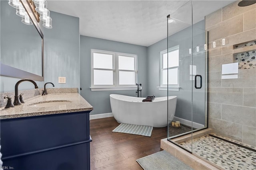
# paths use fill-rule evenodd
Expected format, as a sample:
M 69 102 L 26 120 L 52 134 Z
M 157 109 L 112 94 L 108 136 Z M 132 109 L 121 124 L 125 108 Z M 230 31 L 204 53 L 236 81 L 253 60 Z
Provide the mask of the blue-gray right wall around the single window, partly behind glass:
M 195 48 L 197 44 L 204 44 L 205 42 L 205 34 L 202 31 L 198 30 L 198 27 L 204 28 L 204 21 L 200 21 L 193 25 L 194 29 L 194 37 L 193 40 L 197 41 L 193 43 L 193 47 Z M 175 33 L 169 37 L 169 47 L 174 47 L 179 45 L 179 83 L 180 83 L 180 90 L 179 91 L 169 91 L 169 96 L 178 96 L 177 98 L 177 106 L 176 106 L 176 117 L 180 117 L 182 119 L 191 120 L 191 113 L 192 113 L 192 85 L 194 85 L 194 81 L 190 80 L 189 75 L 189 65 L 192 64 L 192 55 L 189 54 L 190 48 L 192 48 L 192 36 L 191 36 L 191 27 L 183 29 L 178 33 Z M 157 86 L 159 86 L 159 61 L 160 61 L 160 52 L 167 49 L 167 39 L 163 39 L 158 41 L 157 43 L 150 45 L 147 48 L 148 53 L 148 74 L 147 74 L 147 81 L 148 81 L 148 94 L 155 94 L 156 97 L 166 96 L 167 91 L 165 90 L 158 90 Z M 203 58 L 202 58 L 203 57 Z M 194 61 L 194 65 L 200 67 L 200 64 L 203 65 L 200 70 L 198 70 L 198 74 L 205 74 L 205 60 L 204 55 L 201 57 L 197 56 L 197 59 Z M 198 60 L 203 59 L 203 60 Z M 204 76 L 203 76 L 204 77 Z M 204 81 L 205 79 L 203 79 Z M 193 110 L 196 110 L 196 113 L 193 115 L 193 121 L 197 123 L 204 124 L 204 103 L 205 100 L 202 98 L 204 96 L 204 87 L 200 92 L 193 92 L 193 98 L 196 98 L 195 104 L 193 104 Z M 193 89 L 194 90 L 194 89 Z M 193 100 L 194 101 L 194 100 Z M 202 108 L 203 110 L 200 110 Z

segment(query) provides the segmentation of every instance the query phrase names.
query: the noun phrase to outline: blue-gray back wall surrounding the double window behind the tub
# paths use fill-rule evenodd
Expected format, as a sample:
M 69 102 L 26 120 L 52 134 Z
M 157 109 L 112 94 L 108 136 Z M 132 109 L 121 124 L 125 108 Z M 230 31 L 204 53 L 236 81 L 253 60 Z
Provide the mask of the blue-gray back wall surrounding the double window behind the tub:
M 135 90 L 91 91 L 91 49 L 136 54 L 138 56 L 138 82 L 142 84 L 142 96 L 147 96 L 147 47 L 120 43 L 106 39 L 80 36 L 81 95 L 92 106 L 92 114 L 110 113 L 110 94 L 136 96 Z

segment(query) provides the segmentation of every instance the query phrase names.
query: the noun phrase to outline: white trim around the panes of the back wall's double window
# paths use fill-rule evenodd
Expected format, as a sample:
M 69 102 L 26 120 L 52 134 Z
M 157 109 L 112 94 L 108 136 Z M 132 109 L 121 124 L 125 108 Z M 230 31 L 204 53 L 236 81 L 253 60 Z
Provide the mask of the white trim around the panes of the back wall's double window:
M 113 56 L 113 69 L 93 68 L 93 53 L 108 53 Z M 135 70 L 119 70 L 118 69 L 118 56 L 134 57 Z M 138 82 L 138 64 L 137 55 L 128 53 L 118 53 L 113 51 L 105 51 L 98 49 L 91 49 L 91 91 L 107 91 L 107 90 L 136 90 L 135 85 Z M 113 70 L 113 85 L 94 85 L 94 70 Z M 135 72 L 135 84 L 134 85 L 119 85 L 119 71 Z

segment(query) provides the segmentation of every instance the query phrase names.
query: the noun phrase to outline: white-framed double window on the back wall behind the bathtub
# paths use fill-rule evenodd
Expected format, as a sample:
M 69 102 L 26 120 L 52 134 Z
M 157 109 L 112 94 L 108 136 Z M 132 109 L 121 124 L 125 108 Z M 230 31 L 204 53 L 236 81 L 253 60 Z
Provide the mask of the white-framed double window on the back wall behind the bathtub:
M 91 90 L 133 90 L 137 55 L 91 50 Z

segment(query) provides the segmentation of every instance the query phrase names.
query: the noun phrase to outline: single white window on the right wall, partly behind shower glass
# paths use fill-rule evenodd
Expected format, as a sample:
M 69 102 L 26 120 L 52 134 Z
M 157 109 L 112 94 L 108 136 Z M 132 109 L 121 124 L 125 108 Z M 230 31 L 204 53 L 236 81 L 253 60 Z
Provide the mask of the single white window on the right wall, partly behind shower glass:
M 167 90 L 167 83 L 169 90 L 179 89 L 179 46 L 175 46 L 160 52 L 160 80 L 159 90 Z M 168 76 L 167 76 L 168 73 Z M 167 79 L 168 77 L 168 79 Z M 168 82 L 167 82 L 168 80 Z

